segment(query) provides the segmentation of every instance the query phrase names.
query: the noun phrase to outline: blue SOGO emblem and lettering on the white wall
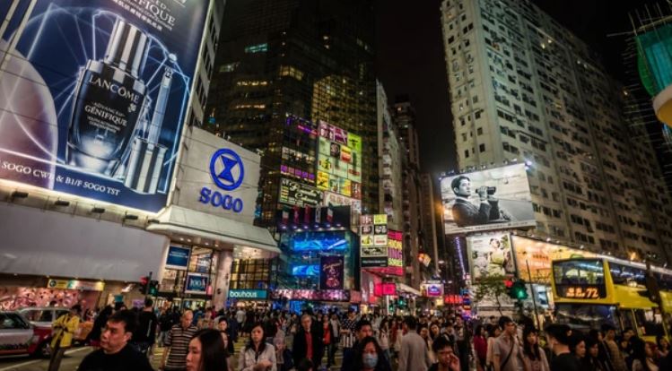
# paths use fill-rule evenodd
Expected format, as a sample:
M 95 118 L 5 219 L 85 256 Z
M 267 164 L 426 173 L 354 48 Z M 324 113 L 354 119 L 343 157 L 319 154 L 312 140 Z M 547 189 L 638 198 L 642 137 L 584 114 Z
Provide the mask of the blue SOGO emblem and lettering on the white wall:
M 225 191 L 233 191 L 240 187 L 245 177 L 245 168 L 238 153 L 228 148 L 215 151 L 210 159 L 210 177 L 213 178 L 216 186 Z M 201 188 L 198 201 L 234 212 L 240 212 L 243 208 L 240 198 L 233 197 L 231 194 L 223 194 L 206 186 Z

